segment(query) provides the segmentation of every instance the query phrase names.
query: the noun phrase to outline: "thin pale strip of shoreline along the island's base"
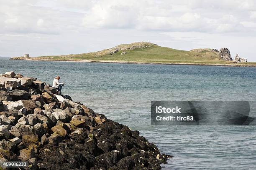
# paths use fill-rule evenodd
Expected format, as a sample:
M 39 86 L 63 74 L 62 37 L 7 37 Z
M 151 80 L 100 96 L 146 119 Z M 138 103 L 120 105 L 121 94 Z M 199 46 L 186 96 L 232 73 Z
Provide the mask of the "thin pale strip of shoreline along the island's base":
M 172 63 L 172 62 L 134 62 L 134 61 L 110 61 L 110 60 L 49 60 L 49 59 L 24 59 L 31 61 L 61 61 L 61 62 L 96 62 L 113 64 L 158 64 L 158 65 L 200 65 L 200 66 L 227 66 L 227 67 L 256 67 L 256 65 L 231 65 L 231 64 L 196 64 L 196 63 Z

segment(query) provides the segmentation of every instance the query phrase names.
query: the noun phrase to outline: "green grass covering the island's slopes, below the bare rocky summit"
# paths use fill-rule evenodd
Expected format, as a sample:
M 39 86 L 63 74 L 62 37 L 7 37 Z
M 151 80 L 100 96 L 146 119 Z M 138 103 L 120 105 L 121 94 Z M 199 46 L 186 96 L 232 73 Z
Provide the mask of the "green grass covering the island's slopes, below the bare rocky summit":
M 135 50 L 126 50 L 125 55 L 118 51 L 113 55 L 96 55 L 93 52 L 60 55 L 60 56 L 42 56 L 35 59 L 47 60 L 100 60 L 100 61 L 122 61 L 122 62 L 146 62 L 146 63 L 186 63 L 186 64 L 233 64 L 232 61 L 221 60 L 217 52 L 203 50 L 202 52 L 175 50 L 169 47 L 147 47 L 137 48 Z M 241 64 L 241 63 L 240 63 Z M 246 65 L 256 65 L 256 62 L 242 63 Z M 236 65 L 236 64 L 233 64 Z

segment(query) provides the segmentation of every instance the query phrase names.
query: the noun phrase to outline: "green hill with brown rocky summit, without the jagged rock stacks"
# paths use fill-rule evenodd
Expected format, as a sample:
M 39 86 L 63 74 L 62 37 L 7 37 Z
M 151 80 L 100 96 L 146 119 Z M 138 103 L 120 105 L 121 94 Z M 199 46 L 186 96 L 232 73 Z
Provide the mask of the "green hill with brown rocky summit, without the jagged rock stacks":
M 124 54 L 125 53 L 125 54 Z M 218 56 L 212 49 L 194 49 L 190 51 L 161 47 L 150 42 L 122 44 L 110 49 L 84 54 L 33 57 L 36 60 L 92 60 L 110 62 L 145 63 L 191 63 L 191 64 L 233 64 Z M 249 64 L 249 63 L 246 63 Z

